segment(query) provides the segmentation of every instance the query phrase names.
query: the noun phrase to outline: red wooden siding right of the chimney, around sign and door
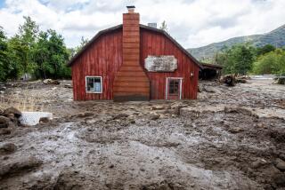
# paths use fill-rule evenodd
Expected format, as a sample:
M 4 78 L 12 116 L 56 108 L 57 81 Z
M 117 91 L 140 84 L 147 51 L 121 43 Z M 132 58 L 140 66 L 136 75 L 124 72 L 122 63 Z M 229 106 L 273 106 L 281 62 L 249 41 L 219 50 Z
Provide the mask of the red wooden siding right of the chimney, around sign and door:
M 174 55 L 178 61 L 175 72 L 158 73 L 145 70 L 151 81 L 151 99 L 166 99 L 167 77 L 183 77 L 182 99 L 197 99 L 199 67 L 166 36 L 141 28 L 142 67 L 148 55 Z

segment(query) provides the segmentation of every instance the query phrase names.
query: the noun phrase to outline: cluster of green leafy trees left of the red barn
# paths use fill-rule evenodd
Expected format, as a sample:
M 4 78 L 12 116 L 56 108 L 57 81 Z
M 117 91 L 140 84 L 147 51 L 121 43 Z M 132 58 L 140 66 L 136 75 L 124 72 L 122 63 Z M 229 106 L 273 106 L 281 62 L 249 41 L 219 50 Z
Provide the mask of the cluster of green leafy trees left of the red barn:
M 0 81 L 35 78 L 69 78 L 70 57 L 64 39 L 55 30 L 40 31 L 37 23 L 24 17 L 16 35 L 8 38 L 0 28 Z

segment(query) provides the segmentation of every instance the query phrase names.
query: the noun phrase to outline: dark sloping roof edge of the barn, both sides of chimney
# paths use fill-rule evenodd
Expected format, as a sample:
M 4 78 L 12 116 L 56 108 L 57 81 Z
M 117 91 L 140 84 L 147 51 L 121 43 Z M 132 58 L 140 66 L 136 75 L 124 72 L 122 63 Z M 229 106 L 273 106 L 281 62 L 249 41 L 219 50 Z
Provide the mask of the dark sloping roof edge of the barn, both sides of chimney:
M 94 42 L 95 42 L 100 36 L 102 36 L 102 35 L 104 35 L 104 34 L 107 34 L 107 33 L 111 32 L 111 31 L 114 31 L 114 30 L 117 30 L 117 29 L 121 29 L 121 28 L 123 28 L 123 25 L 122 25 L 122 24 L 120 24 L 120 25 L 118 25 L 118 26 L 115 26 L 115 27 L 112 27 L 112 28 L 107 28 L 107 29 L 104 29 L 104 30 L 98 32 L 97 35 L 95 35 L 87 44 L 85 44 L 85 46 L 84 46 L 80 51 L 77 52 L 77 54 L 76 54 L 75 56 L 73 56 L 73 57 L 69 60 L 68 66 L 71 67 L 72 64 L 75 62 L 75 60 L 76 60 L 77 58 L 79 58 L 79 57 L 81 56 L 81 54 L 83 54 L 84 51 L 85 51 L 86 49 L 88 49 L 88 47 L 90 47 L 92 44 L 94 44 Z M 168 35 L 168 33 L 167 33 L 166 31 L 164 31 L 164 30 L 162 30 L 162 29 L 158 29 L 158 28 L 151 28 L 151 27 L 148 27 L 148 26 L 145 26 L 145 25 L 142 25 L 142 24 L 140 24 L 140 28 L 148 29 L 148 30 L 151 30 L 151 31 L 153 31 L 153 32 L 158 32 L 158 33 L 160 33 L 160 34 L 166 36 L 166 37 L 167 37 L 171 42 L 173 42 L 181 51 L 183 51 L 190 59 L 192 59 L 192 60 L 194 61 L 194 63 L 195 63 L 199 68 L 203 68 L 203 67 L 200 65 L 199 61 L 198 61 L 197 59 L 195 59 L 195 58 L 191 55 L 191 53 L 190 53 L 189 51 L 186 51 L 186 50 L 183 48 L 183 46 L 182 46 L 181 44 L 178 44 L 172 36 Z

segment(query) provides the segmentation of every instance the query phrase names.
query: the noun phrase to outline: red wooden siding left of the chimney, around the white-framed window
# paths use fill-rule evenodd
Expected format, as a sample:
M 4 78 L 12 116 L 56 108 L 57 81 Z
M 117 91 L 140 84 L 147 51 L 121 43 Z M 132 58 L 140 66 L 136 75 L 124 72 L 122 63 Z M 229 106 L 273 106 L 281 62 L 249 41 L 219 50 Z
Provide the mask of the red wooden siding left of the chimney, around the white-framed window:
M 113 99 L 114 75 L 122 65 L 122 29 L 100 36 L 72 65 L 74 100 Z M 85 76 L 102 76 L 102 93 L 85 92 Z

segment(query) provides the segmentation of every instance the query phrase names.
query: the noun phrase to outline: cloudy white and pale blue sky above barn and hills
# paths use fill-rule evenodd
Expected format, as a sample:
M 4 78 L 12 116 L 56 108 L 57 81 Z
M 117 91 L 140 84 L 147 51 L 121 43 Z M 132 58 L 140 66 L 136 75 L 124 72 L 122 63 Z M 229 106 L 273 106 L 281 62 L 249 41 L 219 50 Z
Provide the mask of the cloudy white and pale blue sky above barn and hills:
M 142 24 L 166 20 L 170 35 L 184 48 L 261 34 L 285 24 L 285 0 L 0 0 L 0 26 L 12 36 L 28 15 L 74 47 L 81 36 L 90 39 L 121 24 L 127 4 L 136 6 Z

